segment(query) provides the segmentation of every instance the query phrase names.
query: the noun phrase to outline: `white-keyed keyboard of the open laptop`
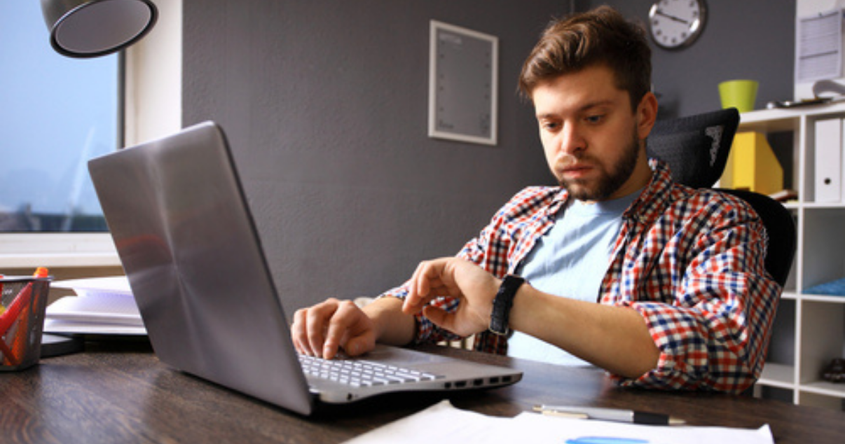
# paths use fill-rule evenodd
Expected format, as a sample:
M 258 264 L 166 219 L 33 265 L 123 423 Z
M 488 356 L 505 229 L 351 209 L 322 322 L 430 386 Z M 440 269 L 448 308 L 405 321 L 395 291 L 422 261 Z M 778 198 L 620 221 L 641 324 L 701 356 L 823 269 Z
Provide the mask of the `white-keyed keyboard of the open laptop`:
M 328 379 L 352 387 L 371 387 L 408 382 L 433 381 L 444 376 L 433 375 L 395 365 L 384 365 L 368 360 L 334 359 L 324 360 L 308 355 L 299 355 L 306 375 Z

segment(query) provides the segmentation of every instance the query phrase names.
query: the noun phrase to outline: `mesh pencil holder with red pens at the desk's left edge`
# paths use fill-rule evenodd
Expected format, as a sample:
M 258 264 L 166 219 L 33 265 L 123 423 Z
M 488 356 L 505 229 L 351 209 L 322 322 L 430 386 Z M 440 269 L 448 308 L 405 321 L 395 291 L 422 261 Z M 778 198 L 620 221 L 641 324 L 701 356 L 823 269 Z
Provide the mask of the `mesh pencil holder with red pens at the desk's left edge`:
M 23 370 L 41 356 L 50 278 L 3 278 L 0 289 L 0 371 Z

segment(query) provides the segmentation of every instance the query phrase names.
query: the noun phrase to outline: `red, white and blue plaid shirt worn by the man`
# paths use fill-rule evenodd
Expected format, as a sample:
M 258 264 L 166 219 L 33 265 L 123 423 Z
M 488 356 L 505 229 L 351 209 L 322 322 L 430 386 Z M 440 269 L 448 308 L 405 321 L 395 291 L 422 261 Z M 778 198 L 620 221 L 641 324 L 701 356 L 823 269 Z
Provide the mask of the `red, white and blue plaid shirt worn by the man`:
M 672 181 L 651 160 L 650 184 L 623 214 L 597 302 L 629 306 L 645 319 L 660 357 L 623 386 L 740 393 L 760 375 L 780 286 L 766 273 L 766 232 L 744 201 Z M 569 198 L 559 187 L 528 187 L 493 216 L 459 257 L 498 278 L 514 270 L 554 224 Z M 384 295 L 403 298 L 405 286 Z M 454 310 L 458 301 L 432 302 Z M 455 335 L 417 317 L 417 341 Z M 477 334 L 475 349 L 504 355 L 507 338 Z

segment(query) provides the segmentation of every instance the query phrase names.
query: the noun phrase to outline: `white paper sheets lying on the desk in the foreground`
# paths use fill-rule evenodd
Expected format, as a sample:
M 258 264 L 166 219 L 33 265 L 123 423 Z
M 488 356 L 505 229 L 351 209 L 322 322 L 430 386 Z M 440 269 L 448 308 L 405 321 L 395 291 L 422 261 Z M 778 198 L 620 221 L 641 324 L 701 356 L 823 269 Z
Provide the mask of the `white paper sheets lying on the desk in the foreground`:
M 455 409 L 449 401 L 442 401 L 422 412 L 357 436 L 346 444 L 392 444 L 395 442 L 581 444 L 602 442 L 602 438 L 605 438 L 605 442 L 615 444 L 774 443 L 768 425 L 756 430 L 725 427 L 669 427 L 598 420 L 570 420 L 535 413 L 523 413 L 515 418 L 499 418 Z

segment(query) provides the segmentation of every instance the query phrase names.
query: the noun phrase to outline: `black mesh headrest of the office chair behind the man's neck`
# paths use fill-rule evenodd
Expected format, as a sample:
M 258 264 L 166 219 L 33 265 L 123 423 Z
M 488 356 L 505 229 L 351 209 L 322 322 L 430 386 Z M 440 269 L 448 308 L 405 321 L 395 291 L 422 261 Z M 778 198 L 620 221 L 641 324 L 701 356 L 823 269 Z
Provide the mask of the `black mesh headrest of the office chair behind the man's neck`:
M 669 164 L 675 181 L 709 188 L 722 177 L 737 127 L 736 108 L 661 120 L 651 129 L 646 148 L 649 157 Z

